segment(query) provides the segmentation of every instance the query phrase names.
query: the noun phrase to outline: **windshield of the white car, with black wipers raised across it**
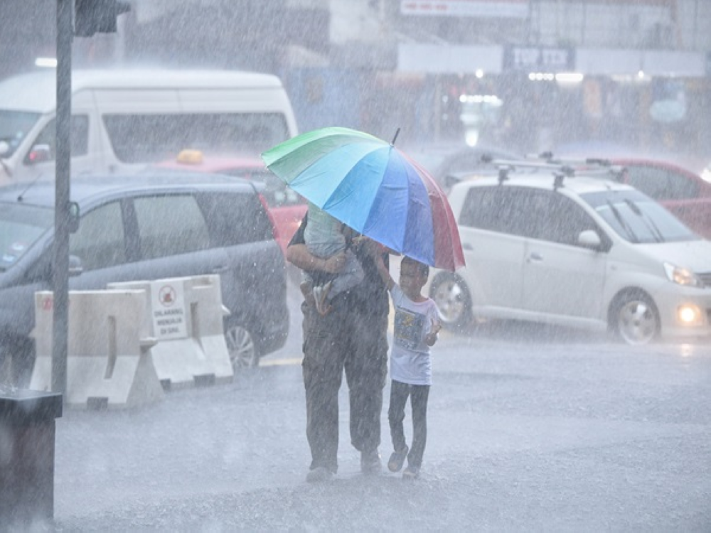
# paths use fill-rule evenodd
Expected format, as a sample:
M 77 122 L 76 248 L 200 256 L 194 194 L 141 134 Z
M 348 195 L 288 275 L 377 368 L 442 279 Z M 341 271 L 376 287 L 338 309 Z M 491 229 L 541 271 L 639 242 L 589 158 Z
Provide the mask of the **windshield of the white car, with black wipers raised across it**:
M 662 205 L 637 190 L 580 195 L 623 239 L 634 243 L 700 239 Z

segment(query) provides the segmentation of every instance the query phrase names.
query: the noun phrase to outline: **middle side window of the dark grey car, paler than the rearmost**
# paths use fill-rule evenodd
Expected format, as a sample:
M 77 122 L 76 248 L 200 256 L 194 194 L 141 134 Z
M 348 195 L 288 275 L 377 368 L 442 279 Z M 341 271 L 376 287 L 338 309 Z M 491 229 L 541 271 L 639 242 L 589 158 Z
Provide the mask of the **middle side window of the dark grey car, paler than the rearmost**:
M 134 200 L 142 259 L 187 254 L 210 247 L 205 217 L 191 195 Z

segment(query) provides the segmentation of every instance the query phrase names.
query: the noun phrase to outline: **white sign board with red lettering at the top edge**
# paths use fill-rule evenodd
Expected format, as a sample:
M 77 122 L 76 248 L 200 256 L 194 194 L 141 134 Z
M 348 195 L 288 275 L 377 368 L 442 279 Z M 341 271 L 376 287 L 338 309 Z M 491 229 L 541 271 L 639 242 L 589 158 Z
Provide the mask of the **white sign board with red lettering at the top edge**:
M 417 16 L 526 18 L 528 0 L 400 0 L 400 13 Z

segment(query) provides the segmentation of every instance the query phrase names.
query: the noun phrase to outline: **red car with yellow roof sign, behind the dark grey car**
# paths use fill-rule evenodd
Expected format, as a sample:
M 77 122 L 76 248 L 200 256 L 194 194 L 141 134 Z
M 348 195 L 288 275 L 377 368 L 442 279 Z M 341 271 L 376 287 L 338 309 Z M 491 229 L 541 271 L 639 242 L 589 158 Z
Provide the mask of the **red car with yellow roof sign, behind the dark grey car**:
M 260 158 L 249 156 L 211 156 L 198 150 L 183 150 L 174 161 L 163 161 L 156 166 L 191 172 L 227 174 L 266 185 L 262 198 L 274 224 L 274 238 L 286 255 L 287 245 L 306 214 L 307 204 L 294 190 L 264 167 Z

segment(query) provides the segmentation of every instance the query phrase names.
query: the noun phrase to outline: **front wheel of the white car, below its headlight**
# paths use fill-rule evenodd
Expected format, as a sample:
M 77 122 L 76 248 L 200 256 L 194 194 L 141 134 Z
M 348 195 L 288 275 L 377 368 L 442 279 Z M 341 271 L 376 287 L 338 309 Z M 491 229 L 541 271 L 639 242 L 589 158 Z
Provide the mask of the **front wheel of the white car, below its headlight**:
M 627 293 L 613 306 L 611 326 L 617 338 L 629 345 L 648 344 L 659 334 L 659 313 L 646 294 Z

